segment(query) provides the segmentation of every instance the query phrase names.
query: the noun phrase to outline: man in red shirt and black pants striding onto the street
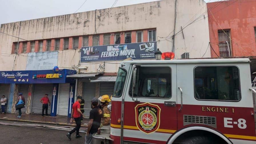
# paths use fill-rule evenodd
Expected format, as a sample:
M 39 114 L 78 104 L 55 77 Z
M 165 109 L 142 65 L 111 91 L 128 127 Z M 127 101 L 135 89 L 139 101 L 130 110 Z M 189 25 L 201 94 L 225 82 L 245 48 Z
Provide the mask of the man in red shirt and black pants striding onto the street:
M 67 137 L 71 140 L 71 134 L 74 133 L 76 131 L 76 135 L 75 138 L 80 138 L 82 137 L 81 135 L 79 135 L 79 129 L 81 127 L 81 115 L 83 115 L 83 113 L 80 110 L 80 103 L 82 101 L 82 97 L 78 96 L 77 97 L 77 101 L 73 104 L 72 106 L 72 111 L 71 111 L 71 119 L 70 122 L 73 122 L 73 118 L 75 119 L 75 123 L 76 123 L 76 127 L 74 129 L 72 129 L 69 133 L 67 133 Z

